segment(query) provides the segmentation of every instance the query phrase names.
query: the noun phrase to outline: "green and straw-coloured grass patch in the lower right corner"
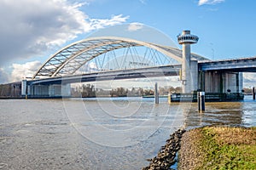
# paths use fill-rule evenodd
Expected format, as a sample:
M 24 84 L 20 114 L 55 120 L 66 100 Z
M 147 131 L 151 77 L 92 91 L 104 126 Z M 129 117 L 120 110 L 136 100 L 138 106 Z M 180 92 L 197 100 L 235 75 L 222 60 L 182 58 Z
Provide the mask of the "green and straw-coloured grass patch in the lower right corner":
M 196 169 L 256 169 L 256 127 L 202 127 Z

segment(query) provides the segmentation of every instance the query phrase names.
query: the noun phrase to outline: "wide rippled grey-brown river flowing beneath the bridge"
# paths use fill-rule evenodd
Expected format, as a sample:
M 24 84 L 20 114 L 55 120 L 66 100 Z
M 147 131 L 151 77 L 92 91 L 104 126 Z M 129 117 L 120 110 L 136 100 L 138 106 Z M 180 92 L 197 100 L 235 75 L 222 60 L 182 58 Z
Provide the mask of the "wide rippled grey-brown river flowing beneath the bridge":
M 246 96 L 252 98 L 252 96 Z M 256 126 L 256 103 L 1 99 L 0 169 L 141 169 L 180 127 Z

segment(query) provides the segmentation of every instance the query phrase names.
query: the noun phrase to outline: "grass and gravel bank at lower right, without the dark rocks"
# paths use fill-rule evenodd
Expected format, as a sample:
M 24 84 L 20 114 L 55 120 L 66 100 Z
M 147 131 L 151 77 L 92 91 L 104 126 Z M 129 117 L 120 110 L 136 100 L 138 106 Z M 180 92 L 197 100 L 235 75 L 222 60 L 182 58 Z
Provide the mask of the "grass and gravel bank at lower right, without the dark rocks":
M 201 127 L 183 133 L 178 169 L 256 169 L 256 127 Z

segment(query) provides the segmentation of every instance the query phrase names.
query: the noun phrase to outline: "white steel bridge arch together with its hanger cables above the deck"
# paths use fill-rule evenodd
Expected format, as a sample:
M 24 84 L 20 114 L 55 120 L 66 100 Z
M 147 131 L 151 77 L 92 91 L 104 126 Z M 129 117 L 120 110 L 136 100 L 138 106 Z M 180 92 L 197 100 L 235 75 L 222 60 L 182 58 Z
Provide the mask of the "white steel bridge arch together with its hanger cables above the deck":
M 147 48 L 147 51 L 143 52 L 144 56 L 138 57 L 137 51 L 142 50 L 140 47 Z M 79 69 L 83 68 L 84 65 L 88 65 L 93 59 L 95 59 L 94 63 L 98 63 L 99 61 L 96 59 L 99 58 L 99 56 L 103 56 L 102 60 L 105 61 L 105 67 L 106 63 L 108 63 L 108 65 L 113 65 L 113 63 L 118 63 L 118 59 L 107 61 L 107 59 L 105 59 L 105 55 L 124 48 L 126 48 L 126 50 L 123 52 L 123 56 L 127 57 L 130 55 L 130 58 L 134 61 L 130 61 L 130 64 L 137 64 L 140 67 L 152 66 L 147 64 L 149 62 L 159 63 L 159 65 L 170 65 L 170 60 L 168 59 L 175 60 L 177 63 L 182 62 L 182 52 L 177 48 L 166 47 L 151 42 L 137 41 L 124 37 L 91 37 L 79 42 L 74 42 L 53 54 L 44 63 L 44 65 L 39 68 L 32 79 L 36 77 L 60 77 L 76 74 Z M 168 59 L 164 59 L 160 54 L 165 55 Z M 146 55 L 152 56 L 150 59 L 146 59 Z M 160 59 L 155 59 L 157 56 Z M 205 60 L 205 58 L 197 54 L 192 54 L 192 59 L 193 58 L 196 60 Z M 124 59 L 122 60 L 124 63 Z M 126 66 L 127 65 L 123 65 L 122 67 L 121 64 L 116 64 L 115 69 L 124 69 Z M 104 71 L 105 67 L 102 66 L 99 68 L 99 66 L 96 66 L 97 71 Z

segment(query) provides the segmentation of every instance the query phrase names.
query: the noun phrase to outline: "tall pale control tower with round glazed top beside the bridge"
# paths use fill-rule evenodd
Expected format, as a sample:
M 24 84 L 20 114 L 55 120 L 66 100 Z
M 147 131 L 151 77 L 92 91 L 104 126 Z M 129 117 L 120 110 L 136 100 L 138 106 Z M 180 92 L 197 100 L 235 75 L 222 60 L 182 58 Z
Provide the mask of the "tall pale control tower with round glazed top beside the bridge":
M 182 63 L 182 82 L 183 93 L 191 93 L 197 90 L 197 62 L 191 62 L 190 59 L 190 44 L 198 42 L 198 37 L 191 35 L 190 31 L 183 31 L 181 35 L 177 36 L 177 42 L 183 45 L 183 63 Z M 195 68 L 196 67 L 196 68 Z

